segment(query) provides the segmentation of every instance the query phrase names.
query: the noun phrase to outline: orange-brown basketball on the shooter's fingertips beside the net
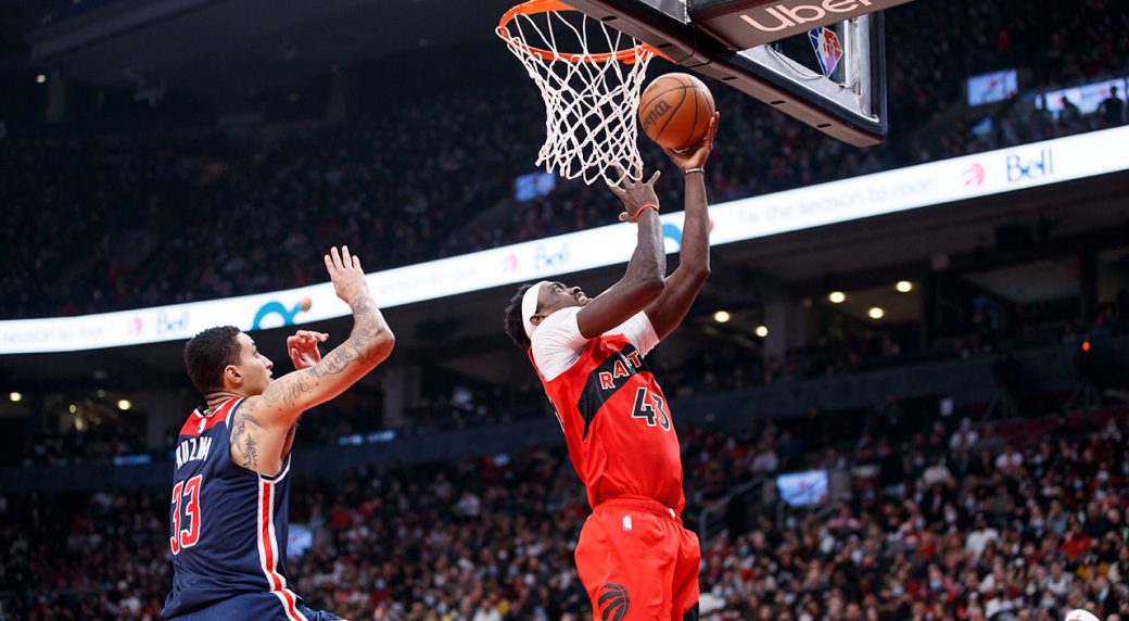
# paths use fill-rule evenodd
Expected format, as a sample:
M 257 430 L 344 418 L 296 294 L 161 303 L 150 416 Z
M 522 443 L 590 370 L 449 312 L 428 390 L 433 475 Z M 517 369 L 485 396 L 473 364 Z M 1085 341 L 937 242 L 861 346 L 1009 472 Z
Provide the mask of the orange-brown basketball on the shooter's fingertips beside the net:
M 714 95 L 701 80 L 689 73 L 667 73 L 642 91 L 639 123 L 659 147 L 681 150 L 706 138 L 714 110 Z

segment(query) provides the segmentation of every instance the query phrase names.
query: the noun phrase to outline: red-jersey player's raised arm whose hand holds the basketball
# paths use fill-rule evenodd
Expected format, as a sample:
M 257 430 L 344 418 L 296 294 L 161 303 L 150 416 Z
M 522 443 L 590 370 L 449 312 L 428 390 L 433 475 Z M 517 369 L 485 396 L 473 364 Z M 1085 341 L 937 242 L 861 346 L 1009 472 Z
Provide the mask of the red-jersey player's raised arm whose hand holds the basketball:
M 647 306 L 647 318 L 655 334 L 665 339 L 682 323 L 690 306 L 709 278 L 709 209 L 706 199 L 706 160 L 714 149 L 714 135 L 720 113 L 714 113 L 706 138 L 688 152 L 664 149 L 686 181 L 686 211 L 682 225 L 679 269 L 666 279 L 663 294 Z

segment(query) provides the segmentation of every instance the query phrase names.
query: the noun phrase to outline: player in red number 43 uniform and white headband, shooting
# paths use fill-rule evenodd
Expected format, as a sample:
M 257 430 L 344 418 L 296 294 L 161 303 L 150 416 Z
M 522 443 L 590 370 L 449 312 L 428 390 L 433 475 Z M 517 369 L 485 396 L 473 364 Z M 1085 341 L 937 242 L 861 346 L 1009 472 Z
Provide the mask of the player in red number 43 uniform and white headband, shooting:
M 560 419 L 593 513 L 576 565 L 602 621 L 698 618 L 698 537 L 682 527 L 685 505 L 679 439 L 666 397 L 644 357 L 682 323 L 709 275 L 703 166 L 717 114 L 702 142 L 667 155 L 685 174 L 681 262 L 665 278 L 654 184 L 612 186 L 620 220 L 639 237 L 623 278 L 588 299 L 579 287 L 522 286 L 506 331 L 528 350 Z

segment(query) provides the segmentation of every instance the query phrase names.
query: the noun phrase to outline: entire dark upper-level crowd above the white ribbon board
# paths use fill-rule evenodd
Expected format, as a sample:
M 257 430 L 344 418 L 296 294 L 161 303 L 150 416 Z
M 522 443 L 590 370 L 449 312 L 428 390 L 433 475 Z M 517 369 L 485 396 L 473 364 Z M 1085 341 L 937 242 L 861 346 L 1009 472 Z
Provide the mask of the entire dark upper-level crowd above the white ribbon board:
M 960 102 L 970 73 L 1031 70 L 1036 88 L 1123 75 L 1129 43 L 1114 0 L 917 2 L 890 15 L 891 139 L 859 150 L 733 89 L 709 166 L 715 201 L 743 198 L 1105 126 L 1047 119 L 1025 100 L 1003 138 L 919 135 Z M 960 24 L 937 28 L 936 24 Z M 971 44 L 970 44 L 971 42 Z M 516 68 L 515 68 L 516 69 Z M 1121 73 L 1117 73 L 1121 71 Z M 0 317 L 73 315 L 297 287 L 324 279 L 321 253 L 349 243 L 368 270 L 615 220 L 598 186 L 562 182 L 515 204 L 542 107 L 520 80 L 437 91 L 338 125 L 225 133 L 182 129 L 0 140 Z M 645 146 L 649 166 L 668 167 Z M 676 202 L 676 176 L 663 182 Z M 497 226 L 474 217 L 511 213 Z M 508 221 L 507 221 L 508 220 Z

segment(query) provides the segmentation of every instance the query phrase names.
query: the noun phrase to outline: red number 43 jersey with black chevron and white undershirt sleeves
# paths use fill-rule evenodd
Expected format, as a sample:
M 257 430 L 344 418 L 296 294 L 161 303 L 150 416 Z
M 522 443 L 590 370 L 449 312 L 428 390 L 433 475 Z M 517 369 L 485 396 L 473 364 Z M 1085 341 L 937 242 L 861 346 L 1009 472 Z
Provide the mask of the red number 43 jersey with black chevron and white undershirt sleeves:
M 639 313 L 596 339 L 580 335 L 580 307 L 558 310 L 533 332 L 530 358 L 557 410 L 588 504 L 646 497 L 677 513 L 679 438 L 666 396 L 644 361 L 658 342 Z

